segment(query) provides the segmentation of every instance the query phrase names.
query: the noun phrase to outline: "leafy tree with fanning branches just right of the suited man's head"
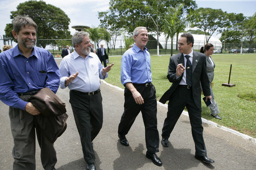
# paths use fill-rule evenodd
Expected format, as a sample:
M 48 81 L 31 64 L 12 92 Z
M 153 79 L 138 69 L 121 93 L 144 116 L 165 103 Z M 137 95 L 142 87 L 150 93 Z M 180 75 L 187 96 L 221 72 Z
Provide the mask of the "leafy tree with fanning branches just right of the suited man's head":
M 226 15 L 221 9 L 199 8 L 198 11 L 201 12 L 202 18 L 193 26 L 204 30 L 208 43 L 213 33 L 227 24 Z

